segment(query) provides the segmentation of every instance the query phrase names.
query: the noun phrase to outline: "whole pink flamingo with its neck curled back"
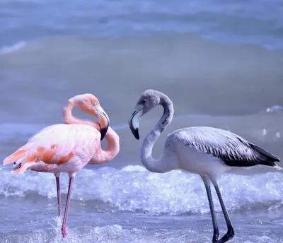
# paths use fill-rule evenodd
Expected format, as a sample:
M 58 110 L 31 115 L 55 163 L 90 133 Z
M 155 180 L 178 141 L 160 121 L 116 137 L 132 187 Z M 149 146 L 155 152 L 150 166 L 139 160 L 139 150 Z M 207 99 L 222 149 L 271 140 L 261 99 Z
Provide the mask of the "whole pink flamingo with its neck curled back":
M 74 107 L 93 115 L 98 123 L 73 117 L 71 111 Z M 66 237 L 71 187 L 76 172 L 86 164 L 109 162 L 119 153 L 120 145 L 119 136 L 110 128 L 108 115 L 94 95 L 76 95 L 69 99 L 63 109 L 63 118 L 65 124 L 45 127 L 28 139 L 28 143 L 5 158 L 3 165 L 18 165 L 12 174 L 22 174 L 28 169 L 54 173 L 59 217 L 62 211 L 59 175 L 60 172 L 69 173 L 69 189 L 62 223 L 62 235 Z M 104 137 L 108 141 L 106 150 L 100 145 L 100 140 Z

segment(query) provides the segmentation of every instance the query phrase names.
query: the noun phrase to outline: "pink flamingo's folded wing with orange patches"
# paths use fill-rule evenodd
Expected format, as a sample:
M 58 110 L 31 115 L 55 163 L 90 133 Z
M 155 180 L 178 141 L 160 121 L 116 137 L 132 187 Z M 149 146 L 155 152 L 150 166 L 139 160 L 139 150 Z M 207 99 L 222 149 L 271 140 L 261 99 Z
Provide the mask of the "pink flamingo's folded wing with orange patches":
M 90 143 L 99 139 L 100 133 L 92 126 L 83 124 L 47 126 L 29 138 L 28 143 L 18 148 L 15 153 L 5 158 L 4 165 L 12 162 L 39 161 L 45 164 L 63 165 L 75 156 L 75 148 L 84 150 Z

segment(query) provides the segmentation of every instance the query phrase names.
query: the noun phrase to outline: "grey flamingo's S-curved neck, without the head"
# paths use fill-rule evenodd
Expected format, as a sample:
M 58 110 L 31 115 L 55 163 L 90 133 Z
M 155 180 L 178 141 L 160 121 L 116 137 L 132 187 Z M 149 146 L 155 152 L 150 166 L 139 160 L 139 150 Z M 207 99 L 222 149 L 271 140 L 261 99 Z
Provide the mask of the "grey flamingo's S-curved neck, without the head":
M 144 164 L 147 170 L 151 172 L 163 173 L 169 171 L 169 169 L 166 167 L 166 156 L 163 155 L 158 160 L 154 159 L 152 157 L 152 148 L 154 148 L 154 143 L 161 135 L 161 132 L 166 129 L 168 124 L 171 123 L 173 119 L 174 108 L 172 101 L 166 95 L 161 95 L 158 105 L 163 106 L 163 115 L 154 126 L 154 129 L 152 129 L 146 138 L 144 138 L 144 142 L 141 146 L 141 162 Z

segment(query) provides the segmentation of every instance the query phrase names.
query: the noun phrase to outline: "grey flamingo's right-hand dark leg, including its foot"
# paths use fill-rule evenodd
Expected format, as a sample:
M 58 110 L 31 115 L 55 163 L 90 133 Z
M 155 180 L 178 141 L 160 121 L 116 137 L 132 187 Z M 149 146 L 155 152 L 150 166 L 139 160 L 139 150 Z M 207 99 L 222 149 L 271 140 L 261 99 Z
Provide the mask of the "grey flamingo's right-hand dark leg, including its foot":
M 223 211 L 223 214 L 224 214 L 224 218 L 226 220 L 226 225 L 227 225 L 227 232 L 226 232 L 226 234 L 221 239 L 219 239 L 219 241 L 217 243 L 228 242 L 229 239 L 232 239 L 234 237 L 235 232 L 234 232 L 233 225 L 231 223 L 229 214 L 228 214 L 228 212 L 226 210 L 226 206 L 225 206 L 224 201 L 222 199 L 222 196 L 221 196 L 218 184 L 216 182 L 216 179 L 214 179 L 214 178 L 210 178 L 210 179 L 212 180 L 212 184 L 214 185 L 216 194 L 217 194 L 217 196 L 219 198 L 219 203 L 221 205 L 221 208 L 222 208 L 222 211 Z

